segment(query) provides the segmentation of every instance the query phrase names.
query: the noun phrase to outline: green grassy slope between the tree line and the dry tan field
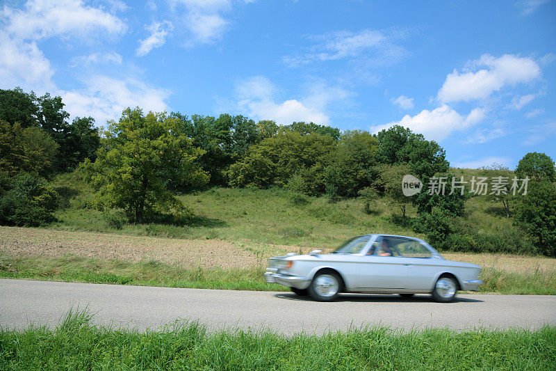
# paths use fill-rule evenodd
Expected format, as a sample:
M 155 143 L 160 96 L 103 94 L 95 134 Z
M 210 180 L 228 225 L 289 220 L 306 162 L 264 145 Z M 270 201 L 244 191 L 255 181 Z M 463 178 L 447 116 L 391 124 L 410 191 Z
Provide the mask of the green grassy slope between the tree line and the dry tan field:
M 489 171 L 452 169 L 456 175 L 489 175 Z M 178 196 L 195 213 L 195 218 L 182 226 L 165 223 L 120 223 L 124 220 L 112 212 L 93 210 L 89 206 L 92 189 L 78 173 L 58 176 L 54 187 L 63 194 L 62 208 L 56 212 L 58 222 L 47 228 L 110 232 L 121 235 L 149 235 L 183 239 L 224 239 L 243 244 L 284 244 L 305 248 L 333 248 L 354 235 L 389 233 L 425 238 L 409 224 L 417 217 L 414 207 L 407 210 L 407 224 L 402 226 L 398 207 L 387 198 L 379 198 L 366 214 L 363 200 L 350 198 L 329 203 L 327 196 L 306 197 L 306 203 L 296 203 L 286 189 L 231 189 L 213 187 Z M 121 212 L 120 212 L 121 214 Z M 121 224 L 121 225 L 120 225 Z M 525 241 L 523 232 L 512 225 L 498 205 L 486 196 L 471 198 L 466 203 L 466 215 L 459 224 L 468 234 L 473 252 L 494 252 L 519 242 L 519 251 L 532 253 L 534 248 Z M 523 246 L 521 246 L 523 245 Z

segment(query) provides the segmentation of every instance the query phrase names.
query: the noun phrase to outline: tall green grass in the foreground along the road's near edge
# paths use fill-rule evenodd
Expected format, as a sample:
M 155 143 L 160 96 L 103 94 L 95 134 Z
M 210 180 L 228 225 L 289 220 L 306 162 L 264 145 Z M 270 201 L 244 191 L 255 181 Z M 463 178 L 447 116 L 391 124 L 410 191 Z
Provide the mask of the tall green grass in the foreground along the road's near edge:
M 93 326 L 71 312 L 56 329 L 0 329 L 2 370 L 553 370 L 556 327 L 539 331 L 384 327 L 281 336 L 209 332 L 177 322 L 161 331 Z

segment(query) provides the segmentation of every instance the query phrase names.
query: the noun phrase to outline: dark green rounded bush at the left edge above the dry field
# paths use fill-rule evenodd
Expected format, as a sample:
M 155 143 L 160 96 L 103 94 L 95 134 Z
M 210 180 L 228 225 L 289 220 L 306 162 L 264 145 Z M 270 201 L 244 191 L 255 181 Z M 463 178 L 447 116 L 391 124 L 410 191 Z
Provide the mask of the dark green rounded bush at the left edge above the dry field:
M 55 221 L 52 214 L 58 194 L 48 182 L 22 173 L 13 179 L 1 175 L 0 224 L 5 226 L 41 226 Z

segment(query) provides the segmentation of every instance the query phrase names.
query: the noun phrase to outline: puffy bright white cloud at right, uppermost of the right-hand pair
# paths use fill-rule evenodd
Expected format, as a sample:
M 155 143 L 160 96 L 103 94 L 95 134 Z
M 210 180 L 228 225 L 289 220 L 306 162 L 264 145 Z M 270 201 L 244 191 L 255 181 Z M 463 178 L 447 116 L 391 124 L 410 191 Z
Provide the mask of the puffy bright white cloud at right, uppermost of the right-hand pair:
M 505 54 L 494 58 L 484 54 L 478 61 L 470 63 L 472 68 L 486 67 L 486 69 L 466 70 L 448 74 L 438 99 L 441 102 L 458 102 L 482 100 L 504 86 L 528 83 L 541 76 L 541 69 L 531 58 L 521 58 Z

